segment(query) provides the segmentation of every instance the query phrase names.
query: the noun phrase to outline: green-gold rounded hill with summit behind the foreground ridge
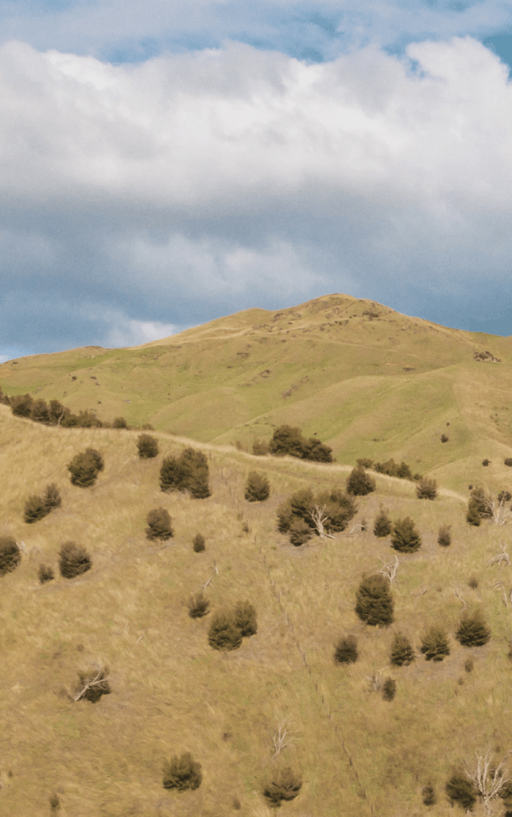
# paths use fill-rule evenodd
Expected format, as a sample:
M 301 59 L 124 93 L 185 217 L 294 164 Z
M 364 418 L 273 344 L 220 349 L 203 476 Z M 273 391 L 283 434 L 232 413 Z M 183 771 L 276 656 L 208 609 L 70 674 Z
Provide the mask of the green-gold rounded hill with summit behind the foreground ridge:
M 512 453 L 511 339 L 343 295 L 247 310 L 133 349 L 8 361 L 0 385 L 249 449 L 286 422 L 317 434 L 340 462 L 405 459 L 459 490 L 483 458 L 498 485 Z

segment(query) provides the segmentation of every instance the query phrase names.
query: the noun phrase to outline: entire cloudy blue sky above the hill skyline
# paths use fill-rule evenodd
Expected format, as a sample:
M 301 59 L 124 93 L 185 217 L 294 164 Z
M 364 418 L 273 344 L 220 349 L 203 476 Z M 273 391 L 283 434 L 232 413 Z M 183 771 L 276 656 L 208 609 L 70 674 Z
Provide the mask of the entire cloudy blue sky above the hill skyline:
M 0 360 L 332 292 L 512 335 L 506 0 L 0 0 Z

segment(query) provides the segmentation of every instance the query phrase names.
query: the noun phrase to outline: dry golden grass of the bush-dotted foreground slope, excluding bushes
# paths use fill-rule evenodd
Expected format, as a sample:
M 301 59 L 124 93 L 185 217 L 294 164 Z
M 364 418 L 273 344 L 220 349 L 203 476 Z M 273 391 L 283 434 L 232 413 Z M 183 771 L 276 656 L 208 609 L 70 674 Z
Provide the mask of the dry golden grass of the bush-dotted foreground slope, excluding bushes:
M 270 817 L 262 784 L 283 762 L 303 780 L 283 815 L 453 814 L 444 792 L 452 767 L 471 767 L 487 747 L 497 757 L 512 747 L 512 568 L 489 564 L 507 527 L 469 527 L 464 498 L 442 486 L 434 501 L 418 500 L 414 483 L 374 475 L 377 490 L 359 497 L 347 530 L 293 547 L 276 530 L 280 502 L 302 487 L 343 488 L 350 468 L 204 444 L 212 496 L 194 500 L 159 489 L 162 458 L 190 440 L 156 433 L 161 453 L 141 460 L 137 436 L 46 428 L 0 407 L 0 535 L 23 543 L 20 566 L 0 577 L 0 812 L 49 814 L 56 794 L 63 817 Z M 104 468 L 93 487 L 75 487 L 66 466 L 87 447 Z M 271 482 L 263 503 L 243 498 L 254 468 Z M 50 483 L 62 506 L 25 524 L 25 499 Z M 412 517 L 422 544 L 397 554 L 395 620 L 379 628 L 354 608 L 361 576 L 395 560 L 389 537 L 372 533 L 381 504 L 393 520 Z M 172 517 L 167 542 L 144 534 L 154 507 Z M 446 523 L 452 543 L 441 547 Z M 192 548 L 198 532 L 201 553 Z M 65 579 L 57 557 L 70 539 L 93 566 Z M 41 564 L 54 566 L 54 581 L 39 583 Z M 192 619 L 187 602 L 202 587 L 211 613 Z M 258 632 L 233 652 L 215 651 L 209 621 L 239 600 L 256 608 Z M 458 644 L 465 609 L 484 612 L 487 645 Z M 429 625 L 448 630 L 440 663 L 418 651 Z M 396 633 L 414 646 L 409 666 L 389 664 Z M 344 635 L 358 640 L 355 664 L 333 660 Z M 96 704 L 70 701 L 92 664 L 108 665 L 112 693 Z M 372 677 L 386 676 L 397 684 L 392 701 L 371 690 Z M 272 760 L 283 723 L 292 741 Z M 167 791 L 162 763 L 184 752 L 202 764 L 202 785 Z M 432 806 L 422 802 L 428 784 Z

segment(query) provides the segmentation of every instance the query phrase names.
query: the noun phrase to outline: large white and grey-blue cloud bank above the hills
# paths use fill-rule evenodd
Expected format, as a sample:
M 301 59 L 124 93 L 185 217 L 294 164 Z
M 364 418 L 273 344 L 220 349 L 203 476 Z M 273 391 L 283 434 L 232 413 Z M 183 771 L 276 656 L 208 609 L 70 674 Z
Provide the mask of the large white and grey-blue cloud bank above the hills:
M 507 69 L 470 38 L 326 64 L 227 44 L 113 66 L 7 44 L 0 323 L 21 331 L 6 293 L 23 310 L 41 291 L 34 310 L 65 299 L 77 326 L 78 300 L 95 303 L 104 345 L 335 290 L 490 313 L 511 155 Z

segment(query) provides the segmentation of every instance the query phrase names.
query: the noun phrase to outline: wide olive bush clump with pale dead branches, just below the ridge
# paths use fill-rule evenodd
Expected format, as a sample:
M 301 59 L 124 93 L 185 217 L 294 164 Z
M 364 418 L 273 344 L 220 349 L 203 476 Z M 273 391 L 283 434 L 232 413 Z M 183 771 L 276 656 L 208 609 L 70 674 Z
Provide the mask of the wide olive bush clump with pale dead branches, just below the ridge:
M 354 499 L 339 488 L 321 491 L 316 496 L 305 488 L 281 503 L 278 530 L 290 534 L 292 544 L 301 545 L 311 536 L 320 535 L 320 525 L 328 534 L 345 530 L 356 510 Z

